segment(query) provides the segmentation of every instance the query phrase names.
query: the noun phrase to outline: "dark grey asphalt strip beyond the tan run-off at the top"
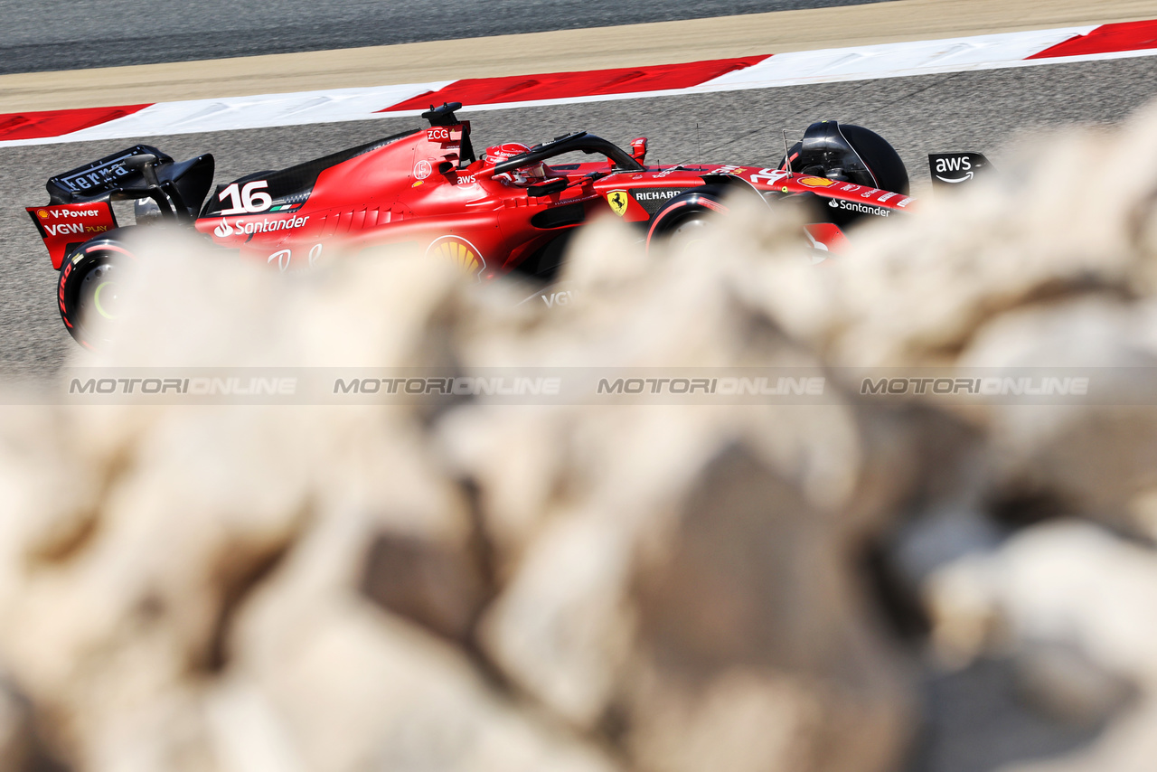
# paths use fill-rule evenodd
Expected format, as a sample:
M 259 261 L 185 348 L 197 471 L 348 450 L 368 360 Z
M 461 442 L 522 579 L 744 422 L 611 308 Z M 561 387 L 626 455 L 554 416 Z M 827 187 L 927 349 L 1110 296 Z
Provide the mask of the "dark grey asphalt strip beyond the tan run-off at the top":
M 707 19 L 880 0 L 0 1 L 0 74 Z

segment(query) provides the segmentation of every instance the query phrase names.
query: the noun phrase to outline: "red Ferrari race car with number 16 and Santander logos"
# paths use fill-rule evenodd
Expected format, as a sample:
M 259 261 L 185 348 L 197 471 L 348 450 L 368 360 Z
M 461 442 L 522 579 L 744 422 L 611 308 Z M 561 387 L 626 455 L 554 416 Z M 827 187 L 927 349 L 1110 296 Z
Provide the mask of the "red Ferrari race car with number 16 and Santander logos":
M 460 108 L 432 106 L 422 113 L 428 127 L 218 185 L 207 201 L 208 154 L 177 163 L 137 145 L 52 177 L 50 203 L 27 211 L 59 271 L 65 326 L 82 345 L 101 341 L 118 313 L 117 277 L 138 258 L 131 231 L 157 220 L 281 271 L 312 266 L 323 253 L 410 243 L 479 280 L 515 271 L 550 281 L 568 237 L 600 212 L 638 223 L 650 245 L 694 234 L 705 218 L 725 213 L 736 191 L 767 205 L 810 203 L 809 237 L 838 251 L 854 220 L 912 204 L 896 150 L 835 120 L 812 124 L 778 167 L 661 167 L 647 166 L 646 138 L 626 150 L 587 132 L 499 145 L 479 159 L 470 122 L 455 115 Z M 112 203 L 130 200 L 138 225 L 118 227 Z

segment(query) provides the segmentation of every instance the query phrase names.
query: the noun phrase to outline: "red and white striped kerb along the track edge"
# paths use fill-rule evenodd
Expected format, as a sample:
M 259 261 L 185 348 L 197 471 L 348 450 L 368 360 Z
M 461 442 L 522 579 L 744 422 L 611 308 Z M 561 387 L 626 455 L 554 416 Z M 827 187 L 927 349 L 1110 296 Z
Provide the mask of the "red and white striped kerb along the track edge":
M 131 139 L 471 109 L 599 102 L 1157 54 L 1157 21 L 889 43 L 655 67 L 0 115 L 0 146 Z

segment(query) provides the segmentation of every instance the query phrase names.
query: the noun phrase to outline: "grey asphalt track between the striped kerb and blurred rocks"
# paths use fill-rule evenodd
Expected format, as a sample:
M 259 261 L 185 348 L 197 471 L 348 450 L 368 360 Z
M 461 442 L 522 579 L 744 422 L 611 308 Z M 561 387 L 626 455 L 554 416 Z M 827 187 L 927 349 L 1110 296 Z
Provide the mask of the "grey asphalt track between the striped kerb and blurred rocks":
M 883 134 L 900 152 L 919 193 L 926 154 L 1003 148 L 1073 123 L 1119 122 L 1157 96 L 1157 57 L 864 82 L 471 112 L 476 145 L 540 141 L 585 128 L 612 141 L 650 139 L 658 163 L 774 164 L 780 130 L 835 118 Z M 216 181 L 275 169 L 417 126 L 414 118 L 142 138 L 177 159 L 212 152 Z M 695 124 L 699 124 L 699 147 Z M 0 149 L 0 377 L 52 375 L 75 345 L 52 302 L 56 272 L 23 206 L 46 201 L 53 174 L 132 145 L 84 142 Z M 1057 177 L 1071 170 L 1057 169 Z

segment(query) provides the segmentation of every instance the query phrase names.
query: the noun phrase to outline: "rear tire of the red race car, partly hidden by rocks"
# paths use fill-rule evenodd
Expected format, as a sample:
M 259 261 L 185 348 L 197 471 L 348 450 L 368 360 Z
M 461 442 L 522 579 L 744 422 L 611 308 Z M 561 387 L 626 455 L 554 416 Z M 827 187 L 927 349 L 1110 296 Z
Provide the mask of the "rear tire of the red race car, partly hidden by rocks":
M 88 241 L 65 257 L 57 304 L 76 343 L 97 350 L 111 339 L 123 313 L 125 273 L 135 262 L 124 243 L 109 236 Z

